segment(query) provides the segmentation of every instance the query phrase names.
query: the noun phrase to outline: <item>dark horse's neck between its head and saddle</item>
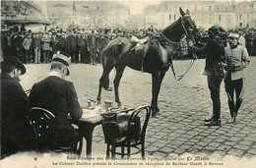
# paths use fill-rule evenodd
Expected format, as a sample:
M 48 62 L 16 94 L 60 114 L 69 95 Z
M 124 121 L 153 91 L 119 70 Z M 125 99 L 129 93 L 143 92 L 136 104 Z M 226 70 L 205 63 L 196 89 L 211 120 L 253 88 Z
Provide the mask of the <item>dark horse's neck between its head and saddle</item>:
M 181 17 L 178 20 L 176 20 L 174 23 L 172 23 L 170 26 L 162 30 L 162 34 L 166 38 L 175 42 L 179 41 L 179 38 L 182 33 L 183 33 L 183 28 L 181 25 Z

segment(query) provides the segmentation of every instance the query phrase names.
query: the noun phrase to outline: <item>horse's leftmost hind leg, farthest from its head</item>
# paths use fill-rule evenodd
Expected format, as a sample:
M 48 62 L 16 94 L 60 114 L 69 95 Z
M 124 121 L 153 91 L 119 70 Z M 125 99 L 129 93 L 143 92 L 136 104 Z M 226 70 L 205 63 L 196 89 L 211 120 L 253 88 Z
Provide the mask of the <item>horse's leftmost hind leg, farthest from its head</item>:
M 103 68 L 103 73 L 101 75 L 101 78 L 99 79 L 99 85 L 98 85 L 98 93 L 96 96 L 96 101 L 98 104 L 100 104 L 100 95 L 101 95 L 101 88 L 102 86 L 106 89 L 106 90 L 110 90 L 109 87 L 109 73 L 111 72 L 111 70 L 113 69 L 113 66 L 110 66 L 108 68 Z

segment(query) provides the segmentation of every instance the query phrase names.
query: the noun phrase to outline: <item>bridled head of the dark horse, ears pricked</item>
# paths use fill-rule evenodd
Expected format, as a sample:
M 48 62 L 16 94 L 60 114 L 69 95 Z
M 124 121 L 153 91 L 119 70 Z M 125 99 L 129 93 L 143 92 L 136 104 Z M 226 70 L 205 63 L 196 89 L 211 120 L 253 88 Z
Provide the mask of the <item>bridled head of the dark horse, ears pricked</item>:
M 179 12 L 181 15 L 181 25 L 184 28 L 185 34 L 189 38 L 200 39 L 201 33 L 198 30 L 195 21 L 191 18 L 190 12 L 187 10 L 186 13 L 179 7 Z

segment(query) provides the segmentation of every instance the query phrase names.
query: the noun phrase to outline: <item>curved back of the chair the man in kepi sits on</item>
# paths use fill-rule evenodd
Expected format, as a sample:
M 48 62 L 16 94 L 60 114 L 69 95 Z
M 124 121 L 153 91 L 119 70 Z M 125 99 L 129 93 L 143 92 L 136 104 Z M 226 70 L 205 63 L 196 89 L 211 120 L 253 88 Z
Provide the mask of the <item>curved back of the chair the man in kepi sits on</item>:
M 52 150 L 56 146 L 56 122 L 55 116 L 50 111 L 32 107 L 29 119 L 35 134 L 38 150 Z

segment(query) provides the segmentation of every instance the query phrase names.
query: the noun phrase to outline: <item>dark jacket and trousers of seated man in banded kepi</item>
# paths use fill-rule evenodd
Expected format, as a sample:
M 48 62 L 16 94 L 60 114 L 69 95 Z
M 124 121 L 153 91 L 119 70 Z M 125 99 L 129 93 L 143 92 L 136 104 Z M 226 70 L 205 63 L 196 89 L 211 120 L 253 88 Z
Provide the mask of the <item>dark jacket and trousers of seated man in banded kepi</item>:
M 68 114 L 74 120 L 82 116 L 82 108 L 78 102 L 77 92 L 71 82 L 59 77 L 49 76 L 37 84 L 33 84 L 29 97 L 30 107 L 41 107 L 52 112 L 56 117 L 57 134 L 62 146 L 74 143 L 78 133 L 71 126 Z

